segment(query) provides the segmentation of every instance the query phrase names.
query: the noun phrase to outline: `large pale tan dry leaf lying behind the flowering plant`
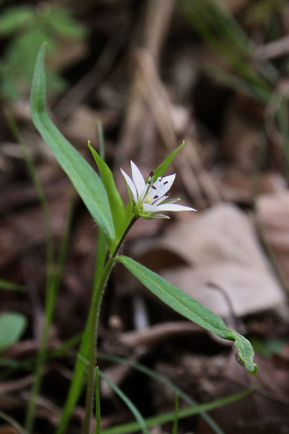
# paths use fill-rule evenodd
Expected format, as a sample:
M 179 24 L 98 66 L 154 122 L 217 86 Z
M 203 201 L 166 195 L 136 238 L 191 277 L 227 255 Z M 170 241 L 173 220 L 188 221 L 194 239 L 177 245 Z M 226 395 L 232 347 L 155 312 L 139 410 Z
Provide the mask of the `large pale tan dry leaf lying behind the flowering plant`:
M 158 270 L 162 276 L 221 316 L 244 316 L 285 300 L 252 223 L 233 205 L 216 205 L 170 226 L 161 240 L 138 250 L 140 262 L 155 269 L 164 254 L 185 265 L 173 268 L 167 260 Z

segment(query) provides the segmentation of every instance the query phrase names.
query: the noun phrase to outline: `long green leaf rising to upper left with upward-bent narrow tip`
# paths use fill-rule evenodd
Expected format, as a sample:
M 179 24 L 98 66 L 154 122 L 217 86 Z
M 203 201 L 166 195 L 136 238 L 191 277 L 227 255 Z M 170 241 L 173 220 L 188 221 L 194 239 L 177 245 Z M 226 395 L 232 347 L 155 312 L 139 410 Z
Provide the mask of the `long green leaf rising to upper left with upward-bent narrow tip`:
M 115 231 L 107 192 L 98 174 L 85 161 L 83 156 L 67 141 L 52 123 L 45 107 L 45 45 L 41 45 L 37 56 L 31 92 L 31 114 L 34 125 L 50 147 L 52 154 L 69 176 L 78 194 L 83 199 L 90 214 L 105 235 L 111 247 Z

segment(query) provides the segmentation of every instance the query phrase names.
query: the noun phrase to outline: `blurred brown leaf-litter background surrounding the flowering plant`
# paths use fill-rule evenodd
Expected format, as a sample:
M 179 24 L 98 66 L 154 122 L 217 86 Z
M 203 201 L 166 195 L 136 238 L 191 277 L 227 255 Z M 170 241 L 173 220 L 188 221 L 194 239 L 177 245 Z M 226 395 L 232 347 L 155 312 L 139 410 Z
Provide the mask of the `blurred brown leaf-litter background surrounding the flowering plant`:
M 54 266 L 49 349 L 70 342 L 70 353 L 45 365 L 35 431 L 53 432 L 94 281 L 96 226 L 31 121 L 43 41 L 52 120 L 92 165 L 87 140 L 103 152 L 104 138 L 123 200 L 120 167 L 130 174 L 132 159 L 148 176 L 185 141 L 168 174 L 177 173 L 173 196 L 198 212 L 138 220 L 124 252 L 246 335 L 259 375 L 236 363 L 230 342 L 159 304 L 119 265 L 103 300 L 100 350 L 149 366 L 197 402 L 260 385 L 210 413 L 223 431 L 194 416 L 180 421 L 180 434 L 288 433 L 286 0 L 0 0 L 0 410 L 23 422 Z M 100 367 L 144 416 L 172 411 L 164 386 L 128 366 Z M 101 394 L 103 428 L 132 419 L 104 384 Z M 69 433 L 79 432 L 83 404 Z M 169 424 L 153 430 L 171 433 Z

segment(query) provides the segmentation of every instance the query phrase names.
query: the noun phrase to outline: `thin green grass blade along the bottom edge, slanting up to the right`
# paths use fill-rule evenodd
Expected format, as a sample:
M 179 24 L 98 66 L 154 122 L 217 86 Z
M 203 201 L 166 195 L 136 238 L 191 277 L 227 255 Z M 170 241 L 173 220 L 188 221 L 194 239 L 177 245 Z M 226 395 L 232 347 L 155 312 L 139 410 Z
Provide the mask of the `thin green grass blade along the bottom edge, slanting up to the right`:
M 245 397 L 249 393 L 252 393 L 254 390 L 255 389 L 247 389 L 246 391 L 242 391 L 240 393 L 235 393 L 234 395 L 220 398 L 220 400 L 189 407 L 188 409 L 182 409 L 179 411 L 179 419 L 197 415 L 201 411 L 213 410 L 213 409 L 217 409 L 218 407 L 231 404 L 232 402 L 241 400 L 243 397 Z M 162 425 L 162 424 L 166 424 L 167 422 L 172 422 L 174 417 L 175 417 L 175 412 L 173 411 L 171 413 L 164 413 L 159 416 L 149 417 L 148 419 L 145 419 L 145 422 L 147 423 L 147 426 L 151 428 L 152 426 Z M 100 434 L 128 434 L 128 433 L 136 433 L 139 430 L 140 430 L 140 425 L 138 424 L 138 422 L 131 422 L 129 424 L 122 424 L 118 426 L 113 426 L 112 428 L 104 429 L 103 431 L 100 431 Z

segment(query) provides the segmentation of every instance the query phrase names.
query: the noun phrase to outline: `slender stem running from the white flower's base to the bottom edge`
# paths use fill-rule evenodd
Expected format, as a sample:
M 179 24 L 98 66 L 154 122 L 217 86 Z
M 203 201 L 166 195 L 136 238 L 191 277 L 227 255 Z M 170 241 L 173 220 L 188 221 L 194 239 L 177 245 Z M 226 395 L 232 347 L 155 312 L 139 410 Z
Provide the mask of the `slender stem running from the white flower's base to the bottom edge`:
M 103 273 L 100 276 L 100 280 L 98 282 L 98 287 L 94 293 L 94 298 L 92 299 L 92 315 L 91 315 L 91 329 L 90 329 L 90 343 L 89 343 L 89 366 L 87 371 L 87 391 L 86 391 L 86 404 L 85 404 L 85 420 L 83 433 L 89 434 L 90 427 L 90 419 L 92 415 L 92 402 L 94 399 L 94 366 L 96 365 L 96 343 L 97 343 L 97 329 L 98 329 L 98 318 L 100 313 L 100 305 L 101 300 L 103 299 L 103 292 L 105 290 L 105 285 L 107 283 L 107 279 L 109 278 L 109 274 L 111 273 L 112 268 L 116 262 L 116 256 L 122 247 L 122 243 L 125 240 L 129 230 L 133 227 L 134 223 L 138 218 L 133 216 L 131 222 L 125 229 L 122 237 L 120 238 L 120 242 L 116 246 L 114 252 L 107 259 L 107 263 L 105 264 L 105 268 L 103 269 Z

